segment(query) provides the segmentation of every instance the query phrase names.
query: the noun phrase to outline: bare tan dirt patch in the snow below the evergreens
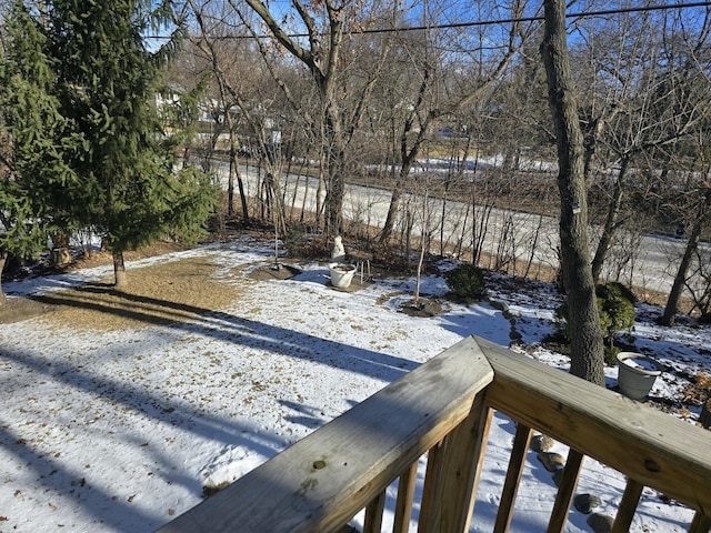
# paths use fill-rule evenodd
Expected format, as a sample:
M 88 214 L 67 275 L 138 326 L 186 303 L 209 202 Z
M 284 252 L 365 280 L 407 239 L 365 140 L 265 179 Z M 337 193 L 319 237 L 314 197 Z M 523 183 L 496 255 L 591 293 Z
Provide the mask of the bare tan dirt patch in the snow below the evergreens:
M 106 280 L 38 296 L 36 303 L 54 311 L 42 318 L 50 326 L 118 330 L 193 322 L 241 293 L 240 286 L 214 278 L 216 269 L 204 258 L 130 269 L 122 291 Z

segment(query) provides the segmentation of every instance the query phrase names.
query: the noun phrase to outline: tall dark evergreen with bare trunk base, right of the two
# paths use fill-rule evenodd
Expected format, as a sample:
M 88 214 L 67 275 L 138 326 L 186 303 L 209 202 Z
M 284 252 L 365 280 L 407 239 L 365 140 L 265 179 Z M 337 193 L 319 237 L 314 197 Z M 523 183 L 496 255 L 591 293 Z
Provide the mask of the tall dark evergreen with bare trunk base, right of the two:
M 46 197 L 46 211 L 62 213 L 64 225 L 90 227 L 102 237 L 113 254 L 117 288 L 127 283 L 127 250 L 167 234 L 194 240 L 217 201 L 209 175 L 190 165 L 177 170 L 178 140 L 162 131 L 156 107 L 161 74 L 181 36 L 173 32 L 153 52 L 143 36 L 168 28 L 171 7 L 168 0 L 56 0 L 44 2 L 42 24 L 39 13 L 14 10 L 32 19 L 47 41 L 51 98 L 64 125 L 62 143 L 54 147 L 71 179 L 64 180 L 63 194 Z M 8 59 L 37 62 L 31 54 Z M 34 80 L 29 83 L 39 90 Z M 16 102 L 18 114 L 24 104 Z M 37 153 L 48 150 L 34 145 Z M 17 161 L 24 157 L 13 152 Z M 42 178 L 37 187 L 47 184 Z

